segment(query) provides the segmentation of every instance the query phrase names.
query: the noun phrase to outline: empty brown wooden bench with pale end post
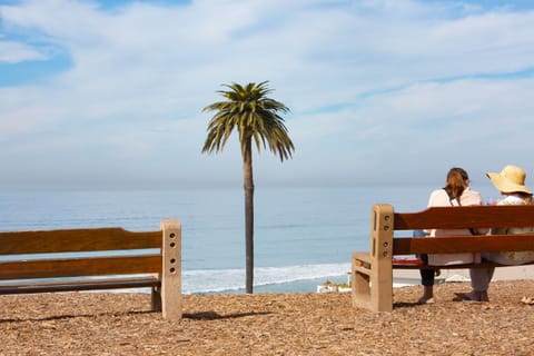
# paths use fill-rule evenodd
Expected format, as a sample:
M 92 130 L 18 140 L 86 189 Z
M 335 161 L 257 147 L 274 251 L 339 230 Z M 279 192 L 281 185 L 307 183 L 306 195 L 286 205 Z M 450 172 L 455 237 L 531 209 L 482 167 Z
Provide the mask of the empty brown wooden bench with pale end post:
M 0 233 L 0 295 L 151 288 L 151 309 L 181 318 L 181 226 Z

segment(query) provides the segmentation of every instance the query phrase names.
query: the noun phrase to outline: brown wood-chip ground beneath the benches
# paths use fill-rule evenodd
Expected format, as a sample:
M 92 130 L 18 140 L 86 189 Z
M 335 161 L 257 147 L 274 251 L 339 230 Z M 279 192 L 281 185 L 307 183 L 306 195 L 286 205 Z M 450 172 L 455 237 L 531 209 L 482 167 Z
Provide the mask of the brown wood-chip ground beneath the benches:
M 502 268 L 506 269 L 506 268 Z M 453 301 L 468 283 L 395 288 L 393 313 L 350 294 L 187 295 L 184 318 L 150 296 L 67 293 L 0 297 L 0 355 L 532 355 L 534 280 L 492 283 L 491 303 Z

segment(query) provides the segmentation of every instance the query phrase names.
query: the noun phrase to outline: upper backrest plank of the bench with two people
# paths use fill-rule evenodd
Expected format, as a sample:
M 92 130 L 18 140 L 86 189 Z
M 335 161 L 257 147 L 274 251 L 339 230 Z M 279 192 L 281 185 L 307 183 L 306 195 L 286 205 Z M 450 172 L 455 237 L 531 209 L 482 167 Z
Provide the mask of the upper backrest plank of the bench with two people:
M 396 212 L 395 230 L 463 229 L 534 226 L 533 206 L 434 207 L 419 212 Z

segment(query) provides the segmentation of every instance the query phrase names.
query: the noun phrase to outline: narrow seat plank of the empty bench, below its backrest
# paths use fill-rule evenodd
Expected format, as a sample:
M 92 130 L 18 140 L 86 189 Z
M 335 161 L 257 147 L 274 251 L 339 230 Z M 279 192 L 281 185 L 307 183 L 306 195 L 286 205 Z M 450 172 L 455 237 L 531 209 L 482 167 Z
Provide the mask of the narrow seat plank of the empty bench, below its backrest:
M 161 281 L 158 278 L 148 276 L 142 278 L 120 278 L 120 279 L 110 278 L 110 279 L 48 281 L 48 283 L 1 284 L 0 294 L 10 295 L 10 294 L 95 290 L 95 289 L 147 288 L 147 287 L 159 287 L 159 286 L 161 286 Z

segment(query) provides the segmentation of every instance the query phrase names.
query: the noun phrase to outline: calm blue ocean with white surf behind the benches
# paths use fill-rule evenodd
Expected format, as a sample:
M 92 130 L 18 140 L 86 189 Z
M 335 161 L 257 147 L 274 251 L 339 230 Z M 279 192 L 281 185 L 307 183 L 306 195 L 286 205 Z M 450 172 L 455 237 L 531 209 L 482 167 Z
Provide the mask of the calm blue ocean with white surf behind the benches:
M 274 188 L 255 191 L 255 293 L 315 291 L 346 281 L 350 253 L 368 250 L 370 207 L 426 207 L 435 187 Z M 492 187 L 474 187 L 496 197 Z M 486 195 L 487 194 L 487 195 Z M 0 229 L 122 227 L 158 230 L 182 224 L 182 291 L 244 293 L 245 231 L 241 188 L 0 189 Z

